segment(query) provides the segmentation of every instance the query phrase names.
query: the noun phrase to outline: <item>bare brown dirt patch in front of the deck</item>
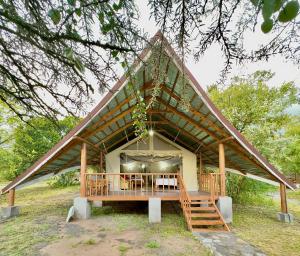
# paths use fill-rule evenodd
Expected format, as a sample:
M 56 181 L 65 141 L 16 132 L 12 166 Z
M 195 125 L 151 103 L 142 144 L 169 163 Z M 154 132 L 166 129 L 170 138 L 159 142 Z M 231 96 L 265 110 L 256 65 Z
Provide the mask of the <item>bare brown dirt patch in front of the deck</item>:
M 140 218 L 138 219 L 140 221 Z M 120 224 L 114 217 L 109 216 L 66 224 L 62 230 L 62 238 L 44 247 L 41 254 L 48 256 L 207 255 L 199 242 L 191 237 L 180 234 L 162 236 L 159 232 L 138 228 L 135 223 L 131 225 L 127 222 L 124 228 L 120 228 Z

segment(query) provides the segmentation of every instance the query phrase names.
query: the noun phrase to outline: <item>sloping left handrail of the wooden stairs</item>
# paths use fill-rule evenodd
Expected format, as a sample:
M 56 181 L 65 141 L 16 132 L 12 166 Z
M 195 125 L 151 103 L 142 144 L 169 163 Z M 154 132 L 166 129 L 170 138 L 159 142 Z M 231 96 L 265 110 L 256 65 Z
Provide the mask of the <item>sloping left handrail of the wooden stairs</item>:
M 184 181 L 181 177 L 181 175 L 178 175 L 178 183 L 179 183 L 179 199 L 181 208 L 183 211 L 184 218 L 186 220 L 188 229 L 192 229 L 192 218 L 191 218 L 191 198 L 189 196 L 189 193 L 186 190 Z

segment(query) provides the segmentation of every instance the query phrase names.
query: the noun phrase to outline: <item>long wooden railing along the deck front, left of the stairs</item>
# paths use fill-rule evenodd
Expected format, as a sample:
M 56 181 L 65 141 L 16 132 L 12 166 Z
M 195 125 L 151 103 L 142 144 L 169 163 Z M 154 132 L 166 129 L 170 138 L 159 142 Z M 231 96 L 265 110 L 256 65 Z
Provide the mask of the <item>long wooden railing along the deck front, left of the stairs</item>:
M 86 196 L 178 193 L 177 173 L 86 173 Z

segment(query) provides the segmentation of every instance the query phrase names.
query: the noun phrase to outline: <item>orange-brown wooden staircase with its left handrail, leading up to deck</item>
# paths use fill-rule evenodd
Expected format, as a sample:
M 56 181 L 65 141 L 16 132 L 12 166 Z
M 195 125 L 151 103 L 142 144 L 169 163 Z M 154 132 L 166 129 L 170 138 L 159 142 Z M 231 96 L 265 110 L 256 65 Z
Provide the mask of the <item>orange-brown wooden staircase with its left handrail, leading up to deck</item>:
M 191 198 L 185 189 L 182 177 L 178 176 L 180 203 L 188 229 L 192 232 L 230 231 L 215 204 L 214 196 Z

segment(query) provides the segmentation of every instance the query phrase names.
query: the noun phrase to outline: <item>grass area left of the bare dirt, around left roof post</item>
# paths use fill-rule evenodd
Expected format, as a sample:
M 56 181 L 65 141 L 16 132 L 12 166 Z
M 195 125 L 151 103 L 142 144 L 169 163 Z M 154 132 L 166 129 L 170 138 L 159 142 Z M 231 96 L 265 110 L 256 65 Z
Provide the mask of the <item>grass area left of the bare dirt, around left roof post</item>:
M 0 255 L 38 255 L 37 248 L 57 240 L 57 223 L 65 219 L 73 198 L 68 195 L 76 190 L 50 190 L 46 184 L 18 190 L 16 205 L 21 206 L 21 215 L 0 224 Z M 0 198 L 0 205 L 6 205 L 6 197 Z

